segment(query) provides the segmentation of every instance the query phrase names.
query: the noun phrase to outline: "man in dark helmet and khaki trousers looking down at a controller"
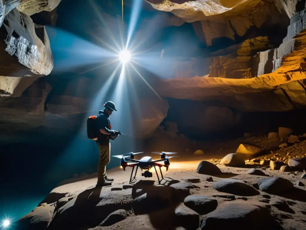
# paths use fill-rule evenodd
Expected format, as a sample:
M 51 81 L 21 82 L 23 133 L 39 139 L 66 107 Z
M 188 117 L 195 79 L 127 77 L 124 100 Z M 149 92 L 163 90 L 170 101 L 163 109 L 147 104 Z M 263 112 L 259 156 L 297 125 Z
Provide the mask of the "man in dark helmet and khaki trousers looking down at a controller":
M 99 148 L 99 163 L 98 163 L 98 182 L 97 187 L 111 185 L 114 181 L 112 178 L 108 178 L 106 175 L 106 165 L 110 162 L 110 139 L 114 140 L 119 132 L 112 130 L 110 123 L 110 115 L 113 111 L 117 111 L 113 102 L 106 102 L 104 104 L 105 109 L 99 111 L 97 116 L 96 125 L 99 129 L 99 135 L 97 140 L 97 146 Z

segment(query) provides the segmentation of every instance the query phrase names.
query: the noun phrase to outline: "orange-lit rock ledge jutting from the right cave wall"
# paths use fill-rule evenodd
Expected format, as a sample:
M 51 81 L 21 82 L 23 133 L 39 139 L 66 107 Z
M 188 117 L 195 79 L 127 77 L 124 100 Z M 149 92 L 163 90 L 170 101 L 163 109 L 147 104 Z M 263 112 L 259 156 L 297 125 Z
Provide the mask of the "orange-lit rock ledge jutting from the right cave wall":
M 304 71 L 299 71 L 305 66 L 304 56 L 301 55 L 306 44 L 304 16 L 305 10 L 302 10 L 291 18 L 287 37 L 278 48 L 258 54 L 260 61 L 256 78 L 227 79 L 198 75 L 187 79 L 167 79 L 160 83 L 158 93 L 177 99 L 214 100 L 248 112 L 288 111 L 305 107 L 305 85 L 301 79 L 305 79 L 306 75 Z M 265 100 L 264 105 L 260 103 L 262 100 Z

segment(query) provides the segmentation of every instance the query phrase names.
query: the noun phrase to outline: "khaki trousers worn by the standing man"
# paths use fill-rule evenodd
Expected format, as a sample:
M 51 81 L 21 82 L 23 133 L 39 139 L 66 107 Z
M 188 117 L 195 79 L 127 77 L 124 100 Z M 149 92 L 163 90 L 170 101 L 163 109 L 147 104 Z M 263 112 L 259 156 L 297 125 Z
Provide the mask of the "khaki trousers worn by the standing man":
M 98 163 L 98 180 L 104 180 L 106 176 L 106 165 L 110 163 L 110 143 L 101 145 L 97 142 L 99 148 L 99 163 Z

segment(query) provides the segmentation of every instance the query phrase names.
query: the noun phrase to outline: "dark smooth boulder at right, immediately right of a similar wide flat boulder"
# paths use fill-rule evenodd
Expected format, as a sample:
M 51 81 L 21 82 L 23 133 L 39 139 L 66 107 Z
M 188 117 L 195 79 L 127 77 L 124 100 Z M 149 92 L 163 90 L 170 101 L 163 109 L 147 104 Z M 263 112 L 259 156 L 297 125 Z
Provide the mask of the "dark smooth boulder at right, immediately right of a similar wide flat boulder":
M 293 184 L 281 177 L 263 178 L 258 182 L 259 189 L 269 194 L 280 194 L 293 189 Z

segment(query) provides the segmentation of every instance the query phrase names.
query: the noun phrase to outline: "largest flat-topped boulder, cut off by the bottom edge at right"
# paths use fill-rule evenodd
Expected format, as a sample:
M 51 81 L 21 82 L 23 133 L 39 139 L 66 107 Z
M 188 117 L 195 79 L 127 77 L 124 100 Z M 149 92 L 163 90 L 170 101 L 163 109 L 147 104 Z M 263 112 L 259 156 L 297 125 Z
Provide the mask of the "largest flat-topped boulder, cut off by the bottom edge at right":
M 270 216 L 268 209 L 261 206 L 259 202 L 254 205 L 245 201 L 224 202 L 218 209 L 204 217 L 201 230 L 224 229 L 233 225 L 237 230 L 244 230 L 248 223 L 253 223 L 248 226 L 250 230 L 282 230 L 280 224 Z

